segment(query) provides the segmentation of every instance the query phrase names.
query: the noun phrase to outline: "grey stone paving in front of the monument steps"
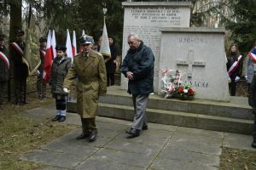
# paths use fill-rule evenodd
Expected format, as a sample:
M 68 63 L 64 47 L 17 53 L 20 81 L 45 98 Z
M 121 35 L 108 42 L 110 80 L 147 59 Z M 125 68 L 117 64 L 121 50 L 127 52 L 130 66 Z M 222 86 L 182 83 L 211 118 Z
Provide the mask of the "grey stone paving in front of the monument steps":
M 24 116 L 50 121 L 54 111 L 51 105 Z M 67 113 L 64 123 L 81 125 L 73 113 Z M 148 123 L 148 130 L 139 137 L 127 139 L 129 121 L 96 116 L 96 125 L 98 135 L 93 143 L 75 139 L 81 133 L 78 127 L 20 159 L 47 166 L 41 170 L 215 170 L 223 146 L 253 150 L 249 135 Z

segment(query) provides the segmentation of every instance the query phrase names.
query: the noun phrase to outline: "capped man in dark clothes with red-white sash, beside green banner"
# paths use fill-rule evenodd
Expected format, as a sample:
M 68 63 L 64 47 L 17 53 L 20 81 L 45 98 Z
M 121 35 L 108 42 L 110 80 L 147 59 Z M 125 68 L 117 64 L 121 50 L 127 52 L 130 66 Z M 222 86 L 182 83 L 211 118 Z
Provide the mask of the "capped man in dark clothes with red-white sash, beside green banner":
M 15 104 L 26 104 L 26 77 L 28 76 L 28 68 L 22 62 L 25 42 L 24 31 L 17 31 L 17 41 L 11 43 L 10 57 L 14 61 L 14 80 L 15 80 Z

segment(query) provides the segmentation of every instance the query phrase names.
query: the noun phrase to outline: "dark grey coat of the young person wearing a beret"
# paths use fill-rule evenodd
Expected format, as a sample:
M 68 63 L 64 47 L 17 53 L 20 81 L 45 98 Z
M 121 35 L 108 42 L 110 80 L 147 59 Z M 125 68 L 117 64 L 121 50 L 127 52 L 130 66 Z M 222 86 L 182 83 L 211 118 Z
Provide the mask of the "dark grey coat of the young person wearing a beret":
M 49 84 L 51 85 L 51 93 L 55 97 L 56 95 L 67 95 L 63 91 L 63 82 L 67 76 L 67 71 L 71 66 L 72 60 L 70 58 L 64 57 L 61 60 L 55 57 L 49 74 Z

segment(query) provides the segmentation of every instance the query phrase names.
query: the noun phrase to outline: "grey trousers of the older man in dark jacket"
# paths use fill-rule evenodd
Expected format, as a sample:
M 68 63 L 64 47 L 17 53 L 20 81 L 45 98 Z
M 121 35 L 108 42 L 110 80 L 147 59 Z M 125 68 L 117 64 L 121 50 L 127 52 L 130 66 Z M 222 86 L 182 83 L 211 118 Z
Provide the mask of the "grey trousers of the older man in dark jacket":
M 135 116 L 131 128 L 142 130 L 144 126 L 148 126 L 148 118 L 146 115 L 146 108 L 148 105 L 148 94 L 147 95 L 135 95 L 132 94 L 132 101 Z

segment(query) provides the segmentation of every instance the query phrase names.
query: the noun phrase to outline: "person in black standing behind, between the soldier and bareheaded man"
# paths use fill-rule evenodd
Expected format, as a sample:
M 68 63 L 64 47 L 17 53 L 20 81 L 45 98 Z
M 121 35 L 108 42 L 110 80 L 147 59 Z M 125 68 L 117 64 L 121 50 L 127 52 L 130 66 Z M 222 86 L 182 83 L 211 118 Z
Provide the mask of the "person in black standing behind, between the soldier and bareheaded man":
M 109 41 L 109 48 L 110 48 L 110 53 L 111 53 L 111 59 L 109 59 L 106 62 L 106 70 L 107 70 L 107 85 L 108 86 L 113 86 L 114 85 L 114 72 L 116 69 L 116 48 L 115 44 L 113 42 L 113 37 L 108 37 Z

